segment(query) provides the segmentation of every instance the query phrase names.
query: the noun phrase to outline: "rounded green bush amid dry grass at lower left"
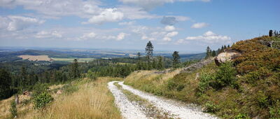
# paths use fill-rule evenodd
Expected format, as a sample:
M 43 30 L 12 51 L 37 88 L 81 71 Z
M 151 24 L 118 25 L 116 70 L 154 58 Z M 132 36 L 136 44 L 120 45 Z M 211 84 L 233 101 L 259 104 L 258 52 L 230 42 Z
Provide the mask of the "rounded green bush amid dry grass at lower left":
M 48 92 L 42 92 L 34 97 L 34 107 L 35 109 L 42 109 L 52 101 L 53 98 Z

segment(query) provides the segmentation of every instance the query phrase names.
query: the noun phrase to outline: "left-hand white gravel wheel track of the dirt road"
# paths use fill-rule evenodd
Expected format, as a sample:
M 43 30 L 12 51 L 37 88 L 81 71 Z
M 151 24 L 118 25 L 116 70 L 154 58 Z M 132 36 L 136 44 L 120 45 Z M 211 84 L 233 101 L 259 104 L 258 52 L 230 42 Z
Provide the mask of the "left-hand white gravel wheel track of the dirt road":
M 120 112 L 123 116 L 123 118 L 131 118 L 131 119 L 145 119 L 146 116 L 143 111 L 132 102 L 130 102 L 125 94 L 121 90 L 116 87 L 116 85 L 113 85 L 113 83 L 116 83 L 118 81 L 111 81 L 108 83 L 109 90 L 113 93 L 113 96 L 115 97 L 115 104 L 120 109 Z

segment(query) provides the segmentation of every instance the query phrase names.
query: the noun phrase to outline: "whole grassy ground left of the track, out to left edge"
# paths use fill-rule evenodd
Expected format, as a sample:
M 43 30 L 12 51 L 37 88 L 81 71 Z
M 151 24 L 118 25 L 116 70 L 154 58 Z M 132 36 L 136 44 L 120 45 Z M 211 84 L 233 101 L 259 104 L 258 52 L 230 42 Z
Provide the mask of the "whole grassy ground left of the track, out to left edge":
M 120 111 L 114 104 L 113 94 L 107 83 L 120 78 L 97 78 L 97 80 L 80 79 L 64 86 L 62 94 L 55 94 L 57 86 L 52 86 L 52 97 L 55 101 L 45 109 L 35 110 L 31 100 L 27 104 L 18 105 L 18 118 L 121 118 Z M 0 102 L 0 118 L 10 118 L 10 102 L 13 97 Z M 3 110 L 3 111 L 2 111 Z

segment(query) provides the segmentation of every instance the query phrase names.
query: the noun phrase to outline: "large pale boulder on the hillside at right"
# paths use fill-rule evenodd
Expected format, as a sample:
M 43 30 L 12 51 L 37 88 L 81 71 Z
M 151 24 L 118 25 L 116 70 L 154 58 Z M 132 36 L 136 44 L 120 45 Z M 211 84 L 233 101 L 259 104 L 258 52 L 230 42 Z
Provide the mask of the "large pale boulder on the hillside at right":
M 235 57 L 238 57 L 241 55 L 240 52 L 236 51 L 225 51 L 220 53 L 217 57 L 215 57 L 215 63 L 217 66 L 220 66 L 222 63 L 225 63 L 227 61 L 232 61 L 232 59 L 235 59 Z

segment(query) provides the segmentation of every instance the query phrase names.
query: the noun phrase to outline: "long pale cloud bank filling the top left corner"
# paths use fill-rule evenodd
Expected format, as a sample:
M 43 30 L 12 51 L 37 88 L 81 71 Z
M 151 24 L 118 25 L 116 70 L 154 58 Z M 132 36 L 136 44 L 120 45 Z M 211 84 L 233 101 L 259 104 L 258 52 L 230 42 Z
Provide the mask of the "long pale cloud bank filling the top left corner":
M 23 6 L 27 10 L 35 10 L 51 17 L 61 17 L 66 15 L 78 15 L 82 18 L 89 18 L 90 15 L 97 15 L 101 12 L 98 6 L 99 1 L 83 0 L 4 0 L 0 1 L 0 6 L 14 8 Z

